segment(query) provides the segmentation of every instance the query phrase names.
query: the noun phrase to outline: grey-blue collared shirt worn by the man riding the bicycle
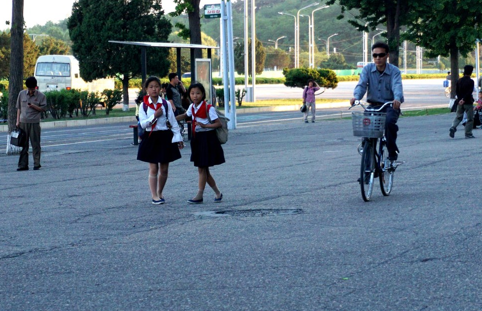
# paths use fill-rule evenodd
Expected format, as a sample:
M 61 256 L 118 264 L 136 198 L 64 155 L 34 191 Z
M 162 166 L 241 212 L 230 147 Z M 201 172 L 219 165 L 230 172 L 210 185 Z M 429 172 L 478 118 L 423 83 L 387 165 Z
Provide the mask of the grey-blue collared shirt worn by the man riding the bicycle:
M 387 102 L 398 100 L 403 102 L 400 70 L 390 63 L 386 63 L 383 73 L 376 70 L 376 65 L 373 62 L 363 67 L 358 84 L 353 90 L 353 97 L 358 100 L 363 98 L 367 89 L 366 101 Z

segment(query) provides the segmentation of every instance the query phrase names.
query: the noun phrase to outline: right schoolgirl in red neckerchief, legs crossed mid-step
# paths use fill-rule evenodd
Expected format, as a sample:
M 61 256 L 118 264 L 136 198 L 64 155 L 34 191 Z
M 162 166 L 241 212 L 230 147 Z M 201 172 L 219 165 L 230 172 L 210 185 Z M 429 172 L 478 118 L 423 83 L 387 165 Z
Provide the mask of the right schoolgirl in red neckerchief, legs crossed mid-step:
M 204 100 L 206 91 L 201 83 L 191 84 L 187 89 L 187 94 L 192 103 L 185 113 L 176 116 L 176 120 L 192 117 L 191 162 L 197 166 L 199 174 L 197 194 L 187 202 L 190 204 L 202 203 L 206 183 L 215 193 L 214 202 L 221 202 L 222 193 L 209 171 L 210 166 L 225 162 L 224 152 L 214 130 L 221 126 L 221 121 L 217 117 L 214 107 L 211 108 L 211 105 Z M 207 113 L 209 113 L 211 123 L 209 123 Z

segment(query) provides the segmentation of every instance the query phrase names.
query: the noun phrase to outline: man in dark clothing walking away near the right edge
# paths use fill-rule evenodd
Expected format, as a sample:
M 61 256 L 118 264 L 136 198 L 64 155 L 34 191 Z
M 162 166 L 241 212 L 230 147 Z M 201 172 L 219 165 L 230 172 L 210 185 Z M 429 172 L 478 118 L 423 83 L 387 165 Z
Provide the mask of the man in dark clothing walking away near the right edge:
M 463 76 L 457 80 L 456 84 L 456 94 L 457 99 L 455 100 L 454 104 L 457 105 L 457 115 L 453 119 L 452 126 L 449 129 L 448 135 L 450 137 L 454 137 L 455 132 L 457 131 L 457 125 L 463 119 L 463 113 L 467 115 L 467 121 L 465 122 L 465 138 L 473 138 L 472 129 L 473 129 L 473 80 L 470 78 L 472 74 L 473 66 L 466 65 L 463 67 Z

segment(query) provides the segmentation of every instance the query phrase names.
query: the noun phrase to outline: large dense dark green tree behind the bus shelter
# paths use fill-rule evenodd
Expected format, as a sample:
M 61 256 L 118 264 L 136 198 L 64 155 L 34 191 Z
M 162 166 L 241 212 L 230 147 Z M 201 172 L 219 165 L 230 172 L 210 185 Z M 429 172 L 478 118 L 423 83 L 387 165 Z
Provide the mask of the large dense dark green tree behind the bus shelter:
M 80 76 L 86 81 L 118 78 L 127 104 L 129 79 L 141 72 L 140 48 L 108 41 L 167 41 L 171 24 L 163 13 L 160 0 L 74 2 L 67 26 Z M 166 75 L 168 52 L 166 48 L 147 49 L 148 74 Z

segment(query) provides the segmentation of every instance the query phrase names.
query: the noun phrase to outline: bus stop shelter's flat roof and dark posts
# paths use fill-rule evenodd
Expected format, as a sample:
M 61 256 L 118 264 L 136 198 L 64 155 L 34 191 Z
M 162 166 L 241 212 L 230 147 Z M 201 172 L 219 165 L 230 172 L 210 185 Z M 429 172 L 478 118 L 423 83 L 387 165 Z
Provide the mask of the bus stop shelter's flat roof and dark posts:
M 206 49 L 207 50 L 207 58 L 211 58 L 211 50 L 217 49 L 217 46 L 209 46 L 203 44 L 188 44 L 188 43 L 172 43 L 172 42 L 134 42 L 134 41 L 114 41 L 109 40 L 111 43 L 118 43 L 118 44 L 127 44 L 127 45 L 137 45 L 140 46 L 140 64 L 141 64 L 141 76 L 142 76 L 142 84 L 144 84 L 146 71 L 147 71 L 147 47 L 166 47 L 166 48 L 175 48 L 176 49 L 176 68 L 177 68 L 177 75 L 181 76 L 181 48 L 189 48 L 190 50 L 190 63 L 191 63 L 191 81 L 196 80 L 196 72 L 193 68 L 195 63 L 194 60 L 194 50 L 195 49 Z

